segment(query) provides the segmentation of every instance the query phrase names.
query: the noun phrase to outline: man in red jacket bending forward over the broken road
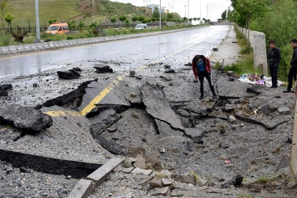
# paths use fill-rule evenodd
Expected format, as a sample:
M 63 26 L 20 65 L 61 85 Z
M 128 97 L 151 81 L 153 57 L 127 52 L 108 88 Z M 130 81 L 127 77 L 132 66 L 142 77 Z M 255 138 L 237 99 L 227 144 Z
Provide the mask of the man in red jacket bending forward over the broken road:
M 206 80 L 208 81 L 210 90 L 212 92 L 213 97 L 216 96 L 215 91 L 214 91 L 214 87 L 212 85 L 211 82 L 211 75 L 210 75 L 210 61 L 207 57 L 203 56 L 203 55 L 196 55 L 194 56 L 193 60 L 192 60 L 192 69 L 194 72 L 194 76 L 195 79 L 199 79 L 200 82 L 200 98 L 199 99 L 203 99 L 204 97 L 204 88 L 203 88 L 203 81 L 204 81 L 204 77 L 206 78 Z

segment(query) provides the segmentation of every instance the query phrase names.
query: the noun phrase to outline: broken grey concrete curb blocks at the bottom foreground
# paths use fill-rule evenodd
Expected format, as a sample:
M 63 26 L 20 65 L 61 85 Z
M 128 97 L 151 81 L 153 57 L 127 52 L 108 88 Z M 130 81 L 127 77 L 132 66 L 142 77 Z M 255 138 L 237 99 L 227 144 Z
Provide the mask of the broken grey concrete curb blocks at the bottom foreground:
M 86 179 L 81 179 L 70 192 L 68 198 L 88 198 L 97 186 L 102 184 L 111 171 L 124 161 L 123 158 L 112 158 L 91 173 Z

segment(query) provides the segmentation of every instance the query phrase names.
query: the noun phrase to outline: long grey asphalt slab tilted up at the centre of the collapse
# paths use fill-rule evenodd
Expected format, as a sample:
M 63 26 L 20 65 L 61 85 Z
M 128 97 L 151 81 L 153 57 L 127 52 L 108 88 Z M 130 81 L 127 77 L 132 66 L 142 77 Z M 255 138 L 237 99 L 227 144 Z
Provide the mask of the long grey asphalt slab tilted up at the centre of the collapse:
M 155 119 L 166 122 L 174 130 L 184 131 L 181 121 L 172 110 L 169 100 L 166 98 L 162 89 L 146 82 L 143 86 L 139 87 L 139 91 L 142 94 L 148 114 Z

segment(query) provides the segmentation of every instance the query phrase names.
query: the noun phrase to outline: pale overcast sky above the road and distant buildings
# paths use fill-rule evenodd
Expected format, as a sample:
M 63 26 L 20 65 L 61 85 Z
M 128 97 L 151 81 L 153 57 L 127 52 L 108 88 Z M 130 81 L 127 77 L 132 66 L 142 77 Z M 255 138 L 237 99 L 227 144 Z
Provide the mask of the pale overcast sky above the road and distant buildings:
M 136 6 L 144 6 L 147 4 L 160 4 L 160 0 L 111 0 L 123 3 L 131 3 Z M 188 18 L 188 1 L 189 1 L 189 18 L 200 17 L 200 2 L 201 2 L 201 18 L 206 18 L 206 7 L 208 4 L 208 18 L 216 21 L 221 18 L 222 12 L 228 9 L 231 5 L 230 0 L 161 0 L 161 6 L 166 6 L 168 9 L 170 4 L 170 12 L 177 12 L 181 17 Z M 185 5 L 187 7 L 185 8 Z M 185 15 L 186 13 L 186 15 Z

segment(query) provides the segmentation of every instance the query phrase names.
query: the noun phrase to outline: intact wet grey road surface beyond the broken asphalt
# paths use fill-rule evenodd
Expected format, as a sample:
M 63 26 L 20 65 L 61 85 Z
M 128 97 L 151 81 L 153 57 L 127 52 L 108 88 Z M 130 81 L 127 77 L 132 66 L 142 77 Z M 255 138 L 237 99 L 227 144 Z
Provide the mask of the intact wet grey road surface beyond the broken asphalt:
M 177 59 L 187 63 L 195 54 L 207 56 L 210 50 L 224 39 L 229 30 L 229 25 L 209 26 L 139 39 L 2 58 L 0 80 L 5 81 L 8 78 L 60 68 L 71 62 L 94 59 L 120 62 L 122 64 L 118 69 L 123 70 L 138 68 L 160 59 L 167 59 L 168 64 Z

